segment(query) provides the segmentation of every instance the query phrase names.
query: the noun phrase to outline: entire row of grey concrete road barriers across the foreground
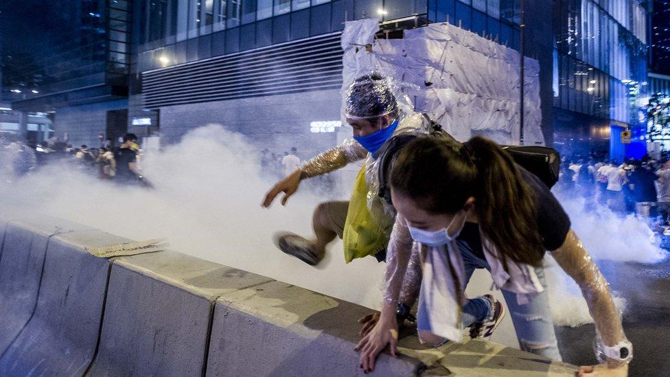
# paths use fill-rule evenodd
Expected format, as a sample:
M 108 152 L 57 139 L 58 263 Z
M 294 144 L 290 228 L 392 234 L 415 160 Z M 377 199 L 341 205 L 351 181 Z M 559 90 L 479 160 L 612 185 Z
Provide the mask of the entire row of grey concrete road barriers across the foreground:
M 0 218 L 3 216 L 0 214 Z M 176 251 L 106 260 L 130 242 L 71 222 L 0 221 L 0 376 L 356 376 L 371 310 Z M 570 376 L 494 343 L 400 339 L 378 376 Z

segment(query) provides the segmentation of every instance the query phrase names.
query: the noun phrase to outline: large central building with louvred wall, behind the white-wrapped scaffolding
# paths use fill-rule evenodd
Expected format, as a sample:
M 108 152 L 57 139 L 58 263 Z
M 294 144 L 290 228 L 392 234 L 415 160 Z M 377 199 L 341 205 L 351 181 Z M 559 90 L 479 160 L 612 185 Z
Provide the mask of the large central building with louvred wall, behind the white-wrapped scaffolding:
M 546 36 L 551 65 L 551 3 L 526 2 L 537 5 L 528 12 L 533 27 L 546 28 L 538 35 Z M 310 135 L 312 122 L 340 120 L 345 21 L 379 17 L 389 38 L 448 22 L 520 48 L 519 0 L 148 0 L 133 11 L 129 117 L 152 124 L 139 133 L 159 131 L 161 142 L 170 143 L 216 122 L 261 142 L 272 135 L 283 150 L 296 138 L 310 140 L 301 157 L 350 134 L 341 127 Z M 531 57 L 542 54 L 532 43 L 527 47 Z M 551 69 L 544 74 L 551 134 Z

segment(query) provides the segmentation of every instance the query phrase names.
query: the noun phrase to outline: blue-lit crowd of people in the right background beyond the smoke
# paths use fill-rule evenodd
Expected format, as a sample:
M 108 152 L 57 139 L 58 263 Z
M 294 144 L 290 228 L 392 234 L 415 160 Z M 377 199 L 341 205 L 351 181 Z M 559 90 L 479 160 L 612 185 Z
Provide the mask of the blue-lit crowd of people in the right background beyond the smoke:
M 618 214 L 660 216 L 670 223 L 670 159 L 564 159 L 559 194 L 581 196 L 586 209 L 606 205 Z

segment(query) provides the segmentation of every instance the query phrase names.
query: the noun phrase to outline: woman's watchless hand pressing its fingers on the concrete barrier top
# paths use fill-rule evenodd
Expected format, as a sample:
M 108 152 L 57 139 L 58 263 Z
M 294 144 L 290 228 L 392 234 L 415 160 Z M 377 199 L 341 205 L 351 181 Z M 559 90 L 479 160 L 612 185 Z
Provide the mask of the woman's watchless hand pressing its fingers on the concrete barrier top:
M 377 355 L 386 345 L 391 346 L 391 355 L 397 357 L 398 326 L 393 315 L 380 320 L 372 330 L 358 342 L 354 350 L 360 351 L 360 367 L 365 373 L 375 370 Z

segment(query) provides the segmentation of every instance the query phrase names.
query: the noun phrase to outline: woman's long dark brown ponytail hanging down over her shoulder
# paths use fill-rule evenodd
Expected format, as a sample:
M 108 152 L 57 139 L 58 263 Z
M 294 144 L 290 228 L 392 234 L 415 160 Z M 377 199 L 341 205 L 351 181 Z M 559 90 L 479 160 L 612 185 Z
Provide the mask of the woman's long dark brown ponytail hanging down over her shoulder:
M 507 258 L 539 266 L 544 246 L 538 232 L 535 192 L 498 144 L 473 137 L 467 150 L 477 168 L 475 207 L 484 236 L 496 245 L 506 269 Z

